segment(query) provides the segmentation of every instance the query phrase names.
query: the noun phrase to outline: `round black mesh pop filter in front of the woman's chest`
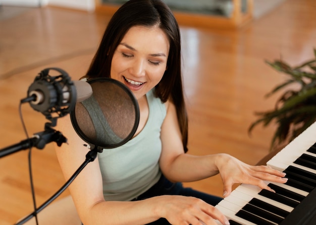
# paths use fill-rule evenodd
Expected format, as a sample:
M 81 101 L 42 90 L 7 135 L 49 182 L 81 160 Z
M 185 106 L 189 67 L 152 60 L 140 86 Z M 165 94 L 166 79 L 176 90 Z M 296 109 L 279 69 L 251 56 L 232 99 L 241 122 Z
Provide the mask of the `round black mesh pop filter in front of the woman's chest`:
M 110 78 L 87 81 L 93 94 L 78 102 L 70 113 L 77 134 L 90 144 L 103 148 L 121 146 L 130 140 L 139 123 L 138 102 L 133 93 L 121 82 Z

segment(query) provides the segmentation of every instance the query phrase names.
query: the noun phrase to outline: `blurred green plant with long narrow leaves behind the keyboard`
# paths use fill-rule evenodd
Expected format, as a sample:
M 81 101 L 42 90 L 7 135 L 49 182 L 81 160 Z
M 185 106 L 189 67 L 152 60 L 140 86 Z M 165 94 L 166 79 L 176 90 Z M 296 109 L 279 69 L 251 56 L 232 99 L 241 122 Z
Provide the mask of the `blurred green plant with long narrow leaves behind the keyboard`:
M 271 149 L 293 140 L 316 121 L 316 49 L 314 56 L 314 59 L 295 67 L 282 60 L 266 61 L 274 69 L 289 76 L 288 80 L 266 95 L 269 97 L 285 90 L 277 100 L 275 108 L 266 112 L 255 112 L 260 118 L 248 129 L 250 133 L 259 123 L 266 127 L 275 121 L 277 129 L 271 141 Z

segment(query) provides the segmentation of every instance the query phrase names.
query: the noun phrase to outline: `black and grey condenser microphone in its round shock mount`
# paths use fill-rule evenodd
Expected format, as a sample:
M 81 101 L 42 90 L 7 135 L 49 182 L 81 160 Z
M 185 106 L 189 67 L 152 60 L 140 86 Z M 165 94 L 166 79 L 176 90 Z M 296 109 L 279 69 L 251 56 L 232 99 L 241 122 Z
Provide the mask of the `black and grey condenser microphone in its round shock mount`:
M 50 76 L 50 70 L 60 72 Z M 77 102 L 84 101 L 92 95 L 91 86 L 84 81 L 71 81 L 68 73 L 60 68 L 46 68 L 35 78 L 28 89 L 28 97 L 21 103 L 41 112 L 47 119 L 63 117 L 70 113 Z

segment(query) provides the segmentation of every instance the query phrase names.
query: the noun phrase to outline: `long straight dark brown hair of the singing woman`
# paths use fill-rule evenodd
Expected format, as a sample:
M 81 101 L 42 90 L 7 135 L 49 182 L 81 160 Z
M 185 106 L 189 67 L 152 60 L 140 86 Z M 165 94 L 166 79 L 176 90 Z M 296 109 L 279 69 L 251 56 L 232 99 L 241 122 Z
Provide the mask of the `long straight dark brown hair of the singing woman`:
M 110 20 L 101 43 L 87 71 L 89 78 L 110 77 L 114 51 L 126 32 L 133 26 L 159 26 L 169 38 L 170 49 L 167 70 L 155 87 L 155 95 L 162 102 L 170 99 L 176 107 L 182 133 L 184 151 L 187 152 L 188 119 L 183 95 L 181 73 L 181 37 L 178 23 L 161 0 L 130 0 L 121 6 Z

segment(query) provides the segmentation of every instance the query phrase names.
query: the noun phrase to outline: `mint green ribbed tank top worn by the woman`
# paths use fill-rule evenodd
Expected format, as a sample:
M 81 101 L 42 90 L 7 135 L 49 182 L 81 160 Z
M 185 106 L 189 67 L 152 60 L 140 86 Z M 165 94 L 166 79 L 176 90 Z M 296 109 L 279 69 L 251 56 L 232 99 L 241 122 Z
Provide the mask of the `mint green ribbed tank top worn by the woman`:
M 160 179 L 160 132 L 167 111 L 165 104 L 154 97 L 153 90 L 146 97 L 149 116 L 142 131 L 124 145 L 103 149 L 98 154 L 107 201 L 132 200 Z

